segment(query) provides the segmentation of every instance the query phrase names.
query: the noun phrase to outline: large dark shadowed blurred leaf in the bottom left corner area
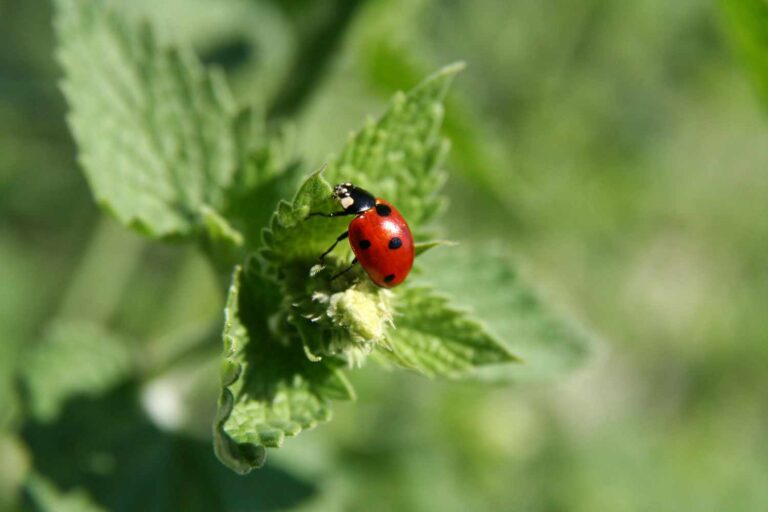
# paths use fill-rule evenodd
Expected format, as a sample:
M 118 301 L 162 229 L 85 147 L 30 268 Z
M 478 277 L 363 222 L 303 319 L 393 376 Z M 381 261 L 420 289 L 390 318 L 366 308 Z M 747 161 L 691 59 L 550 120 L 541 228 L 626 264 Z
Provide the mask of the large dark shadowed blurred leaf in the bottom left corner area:
M 274 511 L 316 493 L 310 482 L 275 466 L 234 474 L 212 456 L 209 441 L 153 424 L 145 405 L 152 399 L 129 382 L 72 401 L 54 423 L 28 424 L 23 434 L 36 475 L 27 490 L 36 510 L 80 511 L 90 504 L 110 511 Z M 45 479 L 43 489 L 37 478 Z

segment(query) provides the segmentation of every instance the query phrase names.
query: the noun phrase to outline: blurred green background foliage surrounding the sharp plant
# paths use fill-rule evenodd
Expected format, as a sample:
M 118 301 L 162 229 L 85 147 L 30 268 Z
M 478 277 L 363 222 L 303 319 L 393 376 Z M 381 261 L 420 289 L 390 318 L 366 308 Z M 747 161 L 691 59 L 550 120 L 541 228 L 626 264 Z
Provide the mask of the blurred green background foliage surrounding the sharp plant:
M 88 493 L 124 510 L 768 509 L 768 124 L 715 5 L 123 4 L 292 121 L 309 167 L 393 91 L 465 60 L 442 229 L 503 246 L 599 340 L 580 368 L 508 387 L 369 365 L 330 424 L 230 474 L 209 439 L 219 345 L 185 350 L 220 316 L 216 278 L 100 213 L 51 7 L 0 0 L 0 508 L 84 510 Z M 109 326 L 140 371 L 33 420 L 18 368 L 72 321 Z M 113 459 L 104 432 L 121 434 Z

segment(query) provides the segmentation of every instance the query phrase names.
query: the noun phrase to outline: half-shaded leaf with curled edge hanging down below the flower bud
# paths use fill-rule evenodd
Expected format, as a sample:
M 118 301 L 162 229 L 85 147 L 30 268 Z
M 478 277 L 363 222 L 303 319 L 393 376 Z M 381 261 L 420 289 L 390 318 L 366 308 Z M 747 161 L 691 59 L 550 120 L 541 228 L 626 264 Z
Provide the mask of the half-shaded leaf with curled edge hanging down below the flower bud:
M 331 417 L 353 391 L 330 360 L 311 362 L 294 330 L 280 332 L 278 290 L 254 265 L 235 268 L 225 309 L 222 392 L 214 426 L 219 459 L 239 473 Z

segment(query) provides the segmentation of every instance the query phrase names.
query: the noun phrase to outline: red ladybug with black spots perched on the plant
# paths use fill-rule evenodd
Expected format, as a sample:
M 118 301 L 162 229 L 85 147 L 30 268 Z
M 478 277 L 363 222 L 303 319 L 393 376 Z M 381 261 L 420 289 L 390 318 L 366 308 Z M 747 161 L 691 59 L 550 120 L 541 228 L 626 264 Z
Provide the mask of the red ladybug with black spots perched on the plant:
M 324 217 L 354 215 L 349 229 L 339 235 L 322 256 L 320 261 L 348 238 L 355 259 L 352 265 L 331 277 L 335 279 L 360 263 L 371 281 L 384 288 L 402 283 L 413 266 L 413 235 L 408 223 L 394 206 L 384 199 L 352 183 L 341 183 L 333 189 L 333 196 L 342 211 L 333 213 L 312 213 Z

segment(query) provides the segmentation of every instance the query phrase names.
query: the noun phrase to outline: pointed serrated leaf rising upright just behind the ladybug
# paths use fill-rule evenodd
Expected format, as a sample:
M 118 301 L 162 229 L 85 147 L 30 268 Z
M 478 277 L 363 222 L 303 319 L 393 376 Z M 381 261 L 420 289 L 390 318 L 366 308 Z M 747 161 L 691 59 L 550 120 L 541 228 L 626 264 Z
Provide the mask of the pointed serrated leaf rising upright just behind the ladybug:
M 437 192 L 445 173 L 439 167 L 448 149 L 439 134 L 443 99 L 463 67 L 447 66 L 407 94 L 395 95 L 387 112 L 369 120 L 330 161 L 326 179 L 375 191 L 416 229 L 432 219 L 442 208 Z

